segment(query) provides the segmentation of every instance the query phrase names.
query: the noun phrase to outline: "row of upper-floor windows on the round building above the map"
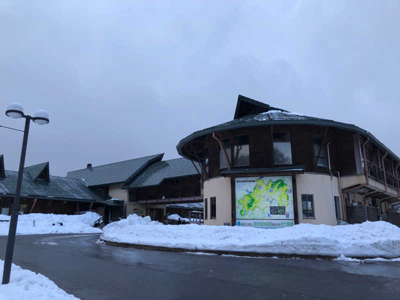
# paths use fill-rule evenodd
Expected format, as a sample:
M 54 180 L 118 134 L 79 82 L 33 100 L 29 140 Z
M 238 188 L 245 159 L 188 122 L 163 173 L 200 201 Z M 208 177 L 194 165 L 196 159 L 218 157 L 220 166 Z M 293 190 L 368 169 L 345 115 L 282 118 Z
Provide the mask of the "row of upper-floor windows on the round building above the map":
M 314 163 L 318 158 L 317 165 L 326 166 L 327 156 L 322 145 L 323 137 L 314 136 Z M 222 140 L 229 162 L 231 159 L 231 139 Z M 275 164 L 291 164 L 291 143 L 289 132 L 273 132 L 273 160 Z M 233 166 L 244 166 L 250 164 L 250 150 L 248 135 L 235 136 L 233 138 Z M 219 168 L 228 166 L 224 153 L 219 149 Z

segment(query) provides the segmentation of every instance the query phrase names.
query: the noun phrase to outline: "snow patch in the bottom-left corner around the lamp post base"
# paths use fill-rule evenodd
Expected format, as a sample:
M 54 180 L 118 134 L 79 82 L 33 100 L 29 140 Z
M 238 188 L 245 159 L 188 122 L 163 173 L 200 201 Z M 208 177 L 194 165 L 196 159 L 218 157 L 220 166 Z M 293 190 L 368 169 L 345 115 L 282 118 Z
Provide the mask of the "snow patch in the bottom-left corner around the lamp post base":
M 3 275 L 4 260 L 0 259 L 0 278 Z M 79 300 L 67 294 L 53 281 L 42 274 L 12 264 L 8 284 L 0 284 L 0 299 L 7 300 Z

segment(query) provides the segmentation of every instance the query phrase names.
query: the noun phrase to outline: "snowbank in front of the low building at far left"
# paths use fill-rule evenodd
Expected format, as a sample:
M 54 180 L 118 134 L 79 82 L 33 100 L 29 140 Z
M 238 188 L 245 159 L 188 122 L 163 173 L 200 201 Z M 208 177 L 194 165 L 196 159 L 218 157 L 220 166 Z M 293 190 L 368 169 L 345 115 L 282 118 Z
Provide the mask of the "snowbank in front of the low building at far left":
M 45 233 L 99 233 L 101 229 L 92 227 L 101 215 L 88 211 L 84 214 L 29 213 L 18 216 L 16 234 Z M 9 215 L 1 214 L 2 219 Z M 35 225 L 33 226 L 33 220 Z M 62 226 L 59 224 L 62 223 Z M 52 225 L 54 224 L 54 226 Z M 0 235 L 8 235 L 9 222 L 0 222 Z

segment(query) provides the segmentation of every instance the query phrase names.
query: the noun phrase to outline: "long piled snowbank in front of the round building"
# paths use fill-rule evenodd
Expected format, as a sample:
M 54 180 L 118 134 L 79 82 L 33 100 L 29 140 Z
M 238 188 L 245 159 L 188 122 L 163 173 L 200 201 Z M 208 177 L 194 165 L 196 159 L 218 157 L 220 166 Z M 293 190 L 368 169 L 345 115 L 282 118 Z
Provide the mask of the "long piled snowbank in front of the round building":
M 385 221 L 329 226 L 298 224 L 261 229 L 241 226 L 163 225 L 135 214 L 103 228 L 101 239 L 196 250 L 329 256 L 400 256 L 400 228 Z

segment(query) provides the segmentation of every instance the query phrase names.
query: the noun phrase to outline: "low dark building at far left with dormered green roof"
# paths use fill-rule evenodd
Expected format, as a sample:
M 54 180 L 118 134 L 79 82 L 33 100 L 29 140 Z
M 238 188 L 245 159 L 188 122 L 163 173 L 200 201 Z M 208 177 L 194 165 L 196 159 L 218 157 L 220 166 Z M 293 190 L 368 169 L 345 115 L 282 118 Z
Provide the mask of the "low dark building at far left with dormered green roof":
M 15 196 L 18 172 L 4 169 L 0 155 L 0 213 L 10 214 Z M 86 186 L 82 179 L 52 176 L 49 163 L 43 162 L 23 169 L 19 213 L 73 214 L 96 209 L 107 215 L 119 216 L 119 204 L 107 194 Z

